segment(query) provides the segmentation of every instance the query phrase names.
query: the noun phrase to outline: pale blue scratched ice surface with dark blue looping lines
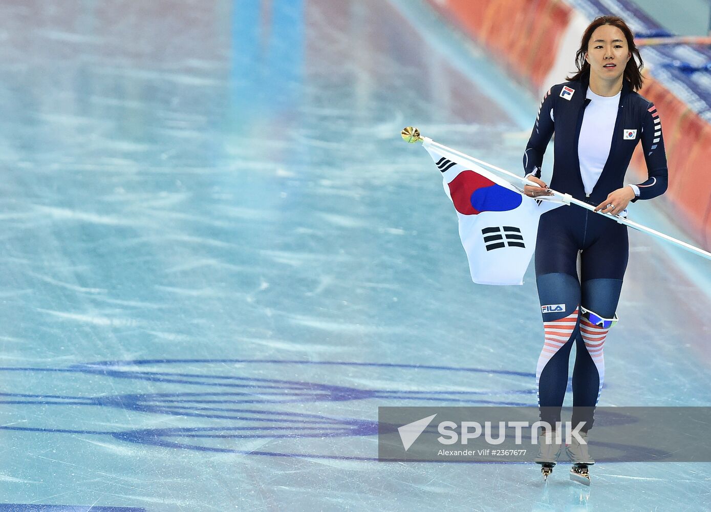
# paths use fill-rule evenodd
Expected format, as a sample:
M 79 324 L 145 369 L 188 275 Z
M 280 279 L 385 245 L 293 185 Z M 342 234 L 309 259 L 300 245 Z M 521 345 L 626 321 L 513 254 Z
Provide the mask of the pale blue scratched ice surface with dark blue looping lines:
M 518 172 L 538 98 L 421 4 L 0 18 L 0 511 L 711 508 L 711 464 L 377 461 L 378 406 L 535 405 L 542 346 L 400 139 Z M 631 233 L 600 405 L 711 405 L 709 272 Z

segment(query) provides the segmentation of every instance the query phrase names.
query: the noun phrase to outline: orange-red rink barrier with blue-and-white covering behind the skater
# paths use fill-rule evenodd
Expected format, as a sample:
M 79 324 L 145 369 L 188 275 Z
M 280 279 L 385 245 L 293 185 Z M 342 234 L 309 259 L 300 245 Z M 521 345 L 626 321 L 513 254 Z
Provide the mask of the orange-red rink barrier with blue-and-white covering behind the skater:
M 595 16 L 621 16 L 637 37 L 671 35 L 627 0 L 427 1 L 539 95 L 572 71 L 580 35 Z M 541 51 L 543 46 L 556 51 Z M 640 92 L 656 105 L 665 127 L 670 170 L 665 197 L 680 226 L 710 249 L 711 66 L 704 63 L 711 62 L 711 49 L 650 46 L 641 54 L 646 66 Z M 645 179 L 640 146 L 632 169 Z

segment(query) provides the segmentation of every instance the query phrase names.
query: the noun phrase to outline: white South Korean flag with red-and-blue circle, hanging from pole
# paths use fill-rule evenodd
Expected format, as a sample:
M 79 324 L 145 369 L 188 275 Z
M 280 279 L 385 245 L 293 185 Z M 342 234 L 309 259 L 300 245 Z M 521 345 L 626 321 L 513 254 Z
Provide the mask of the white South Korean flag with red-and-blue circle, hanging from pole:
M 472 281 L 523 284 L 540 215 L 564 203 L 550 196 L 525 196 L 506 179 L 452 154 L 432 139 L 425 139 L 423 146 L 442 173 L 444 192 L 456 210 Z

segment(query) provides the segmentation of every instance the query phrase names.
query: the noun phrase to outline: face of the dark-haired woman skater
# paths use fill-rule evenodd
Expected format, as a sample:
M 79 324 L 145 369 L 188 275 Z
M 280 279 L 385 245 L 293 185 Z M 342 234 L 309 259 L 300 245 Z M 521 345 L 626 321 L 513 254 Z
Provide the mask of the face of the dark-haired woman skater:
M 590 64 L 590 73 L 614 82 L 624 73 L 631 56 L 624 33 L 614 25 L 602 25 L 595 29 L 587 43 L 585 60 Z

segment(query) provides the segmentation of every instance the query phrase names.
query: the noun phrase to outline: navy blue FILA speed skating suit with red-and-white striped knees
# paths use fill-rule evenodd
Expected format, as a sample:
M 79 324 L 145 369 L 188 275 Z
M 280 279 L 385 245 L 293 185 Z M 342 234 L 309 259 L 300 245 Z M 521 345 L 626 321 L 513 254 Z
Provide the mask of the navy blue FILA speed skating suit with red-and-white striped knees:
M 526 174 L 540 177 L 540 167 L 550 138 L 555 134 L 555 161 L 550 188 L 569 193 L 594 206 L 624 186 L 624 175 L 636 145 L 642 143 L 648 179 L 639 183 L 637 199 L 651 199 L 667 188 L 667 165 L 661 122 L 654 105 L 631 90 L 624 81 L 608 159 L 592 193 L 584 190 L 578 160 L 578 139 L 585 107 L 587 79 L 554 85 L 545 95 L 526 146 Z M 577 273 L 580 253 L 581 274 Z M 578 420 L 592 426 L 604 377 L 602 343 L 606 331 L 596 331 L 580 321 L 580 306 L 611 319 L 617 309 L 629 255 L 627 228 L 579 206 L 561 206 L 544 213 L 538 228 L 535 252 L 536 281 L 546 331 L 537 370 L 538 401 L 543 420 L 560 419 L 567 388 L 568 360 L 577 343 L 573 370 L 573 405 L 589 407 Z M 546 307 L 547 306 L 547 307 Z M 562 329 L 556 329 L 563 326 Z M 570 333 L 565 331 L 572 329 Z M 573 327 L 574 326 L 574 327 Z M 550 333 L 550 336 L 549 336 Z M 563 334 L 565 333 L 565 334 Z M 543 407 L 548 412 L 543 412 Z M 548 409 L 547 407 L 551 407 Z M 558 412 L 555 412 L 555 411 Z

